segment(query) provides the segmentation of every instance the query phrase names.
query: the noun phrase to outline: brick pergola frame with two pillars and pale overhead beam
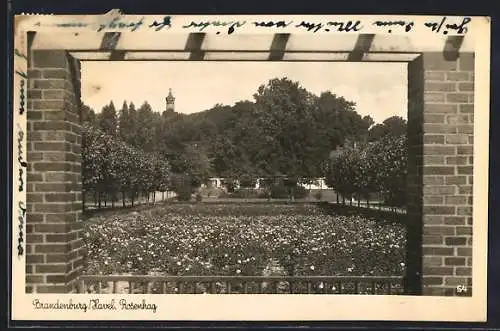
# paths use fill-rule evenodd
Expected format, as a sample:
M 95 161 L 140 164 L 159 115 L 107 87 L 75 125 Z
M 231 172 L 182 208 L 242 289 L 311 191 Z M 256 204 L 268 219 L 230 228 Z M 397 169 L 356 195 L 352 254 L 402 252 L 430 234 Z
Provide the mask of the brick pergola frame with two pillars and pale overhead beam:
M 71 292 L 83 267 L 80 60 L 407 63 L 407 292 L 455 295 L 472 285 L 474 53 L 463 37 L 415 45 L 388 35 L 275 34 L 227 43 L 192 33 L 132 47 L 134 36 L 118 32 L 28 36 L 27 292 Z

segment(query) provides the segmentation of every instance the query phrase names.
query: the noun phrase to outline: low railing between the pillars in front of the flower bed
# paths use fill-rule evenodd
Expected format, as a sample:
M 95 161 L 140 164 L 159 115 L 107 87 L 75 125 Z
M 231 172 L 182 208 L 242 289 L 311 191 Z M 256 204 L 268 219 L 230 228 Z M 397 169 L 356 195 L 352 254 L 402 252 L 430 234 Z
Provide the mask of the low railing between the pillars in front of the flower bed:
M 78 293 L 129 294 L 403 294 L 398 276 L 83 275 Z

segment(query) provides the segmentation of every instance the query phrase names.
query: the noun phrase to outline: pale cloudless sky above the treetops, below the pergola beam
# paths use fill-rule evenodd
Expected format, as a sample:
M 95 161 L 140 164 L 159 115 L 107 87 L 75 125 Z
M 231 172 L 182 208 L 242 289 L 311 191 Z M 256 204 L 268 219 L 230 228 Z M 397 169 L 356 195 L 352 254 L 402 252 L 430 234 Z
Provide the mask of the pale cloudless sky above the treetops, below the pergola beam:
M 375 62 L 100 62 L 82 61 L 82 101 L 100 112 L 113 100 L 153 110 L 165 109 L 169 88 L 175 111 L 193 113 L 215 104 L 253 100 L 257 88 L 271 78 L 287 77 L 308 91 L 343 96 L 356 103 L 362 116 L 380 123 L 390 116 L 407 118 L 405 63 Z

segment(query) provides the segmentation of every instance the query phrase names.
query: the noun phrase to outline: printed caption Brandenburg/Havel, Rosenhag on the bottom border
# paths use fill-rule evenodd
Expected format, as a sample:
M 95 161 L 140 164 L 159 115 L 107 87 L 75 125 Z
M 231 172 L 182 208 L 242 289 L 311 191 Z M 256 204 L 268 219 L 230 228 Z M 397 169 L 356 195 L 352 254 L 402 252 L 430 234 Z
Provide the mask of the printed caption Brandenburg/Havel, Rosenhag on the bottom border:
M 156 310 L 158 309 L 158 306 L 155 303 L 148 303 L 145 299 L 142 299 L 141 301 L 132 301 L 130 299 L 111 299 L 107 301 L 102 299 L 73 301 L 73 299 L 69 299 L 68 301 L 61 301 L 57 299 L 55 302 L 35 299 L 32 304 L 35 309 L 40 310 L 81 310 L 84 313 L 91 310 L 149 310 L 156 313 Z

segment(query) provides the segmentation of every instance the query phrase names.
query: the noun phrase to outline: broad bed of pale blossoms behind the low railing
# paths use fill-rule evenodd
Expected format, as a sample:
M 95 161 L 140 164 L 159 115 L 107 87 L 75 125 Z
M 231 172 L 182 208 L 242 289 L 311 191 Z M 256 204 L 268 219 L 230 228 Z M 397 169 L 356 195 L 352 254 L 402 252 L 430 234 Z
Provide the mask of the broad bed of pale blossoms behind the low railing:
M 404 271 L 405 229 L 312 204 L 167 204 L 85 223 L 88 274 L 289 275 Z

